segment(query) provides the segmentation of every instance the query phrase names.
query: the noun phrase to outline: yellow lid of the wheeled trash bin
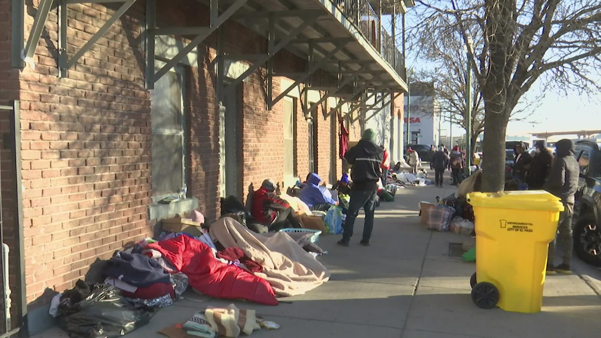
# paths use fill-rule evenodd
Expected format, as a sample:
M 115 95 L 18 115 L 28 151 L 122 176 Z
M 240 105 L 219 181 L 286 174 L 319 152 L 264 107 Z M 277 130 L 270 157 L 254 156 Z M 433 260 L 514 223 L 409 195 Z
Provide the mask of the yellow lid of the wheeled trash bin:
M 544 190 L 470 192 L 466 195 L 469 204 L 497 209 L 526 209 L 563 211 L 559 197 Z

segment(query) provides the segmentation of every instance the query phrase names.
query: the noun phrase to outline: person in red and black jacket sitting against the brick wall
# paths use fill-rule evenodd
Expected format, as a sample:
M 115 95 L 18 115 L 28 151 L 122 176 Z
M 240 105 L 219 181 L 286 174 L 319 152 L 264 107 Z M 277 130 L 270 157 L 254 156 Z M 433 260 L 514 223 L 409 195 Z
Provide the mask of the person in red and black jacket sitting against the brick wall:
M 275 194 L 276 188 L 273 180 L 263 181 L 261 188 L 252 195 L 252 217 L 266 224 L 270 232 L 284 228 L 302 228 L 290 204 Z

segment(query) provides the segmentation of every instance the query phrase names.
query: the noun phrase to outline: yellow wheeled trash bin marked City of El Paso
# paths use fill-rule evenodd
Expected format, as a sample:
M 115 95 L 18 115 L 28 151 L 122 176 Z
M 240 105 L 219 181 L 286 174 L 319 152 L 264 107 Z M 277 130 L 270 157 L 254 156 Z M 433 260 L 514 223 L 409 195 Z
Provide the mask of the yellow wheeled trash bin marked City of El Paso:
M 476 273 L 472 300 L 483 309 L 540 312 L 549 242 L 563 204 L 542 190 L 472 192 Z

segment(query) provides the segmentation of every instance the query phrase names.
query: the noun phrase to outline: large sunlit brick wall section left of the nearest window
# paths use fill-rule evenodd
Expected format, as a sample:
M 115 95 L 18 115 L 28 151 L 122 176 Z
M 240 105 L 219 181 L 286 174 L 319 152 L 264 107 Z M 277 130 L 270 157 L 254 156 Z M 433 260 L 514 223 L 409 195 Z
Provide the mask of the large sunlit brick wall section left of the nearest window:
M 112 7 L 111 7 L 112 8 Z M 69 5 L 69 57 L 113 13 Z M 25 31 L 33 22 L 31 10 Z M 70 288 L 97 257 L 150 233 L 150 94 L 144 88 L 144 7 L 127 16 L 59 79 L 56 11 L 20 75 L 27 300 Z

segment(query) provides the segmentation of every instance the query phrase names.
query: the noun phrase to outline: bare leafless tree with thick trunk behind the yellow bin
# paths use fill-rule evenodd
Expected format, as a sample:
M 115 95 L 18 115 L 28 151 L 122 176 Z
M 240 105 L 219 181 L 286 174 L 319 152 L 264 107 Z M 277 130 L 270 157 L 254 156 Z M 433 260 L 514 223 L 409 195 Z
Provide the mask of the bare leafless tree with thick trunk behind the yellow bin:
M 409 28 L 415 55 L 427 41 L 459 37 L 484 102 L 483 189 L 504 185 L 505 132 L 514 108 L 537 81 L 547 88 L 601 90 L 599 0 L 417 0 Z M 473 45 L 468 41 L 473 40 Z M 462 49 L 458 51 L 463 53 Z M 475 99 L 476 101 L 477 99 Z M 488 126 L 489 128 L 486 128 Z

